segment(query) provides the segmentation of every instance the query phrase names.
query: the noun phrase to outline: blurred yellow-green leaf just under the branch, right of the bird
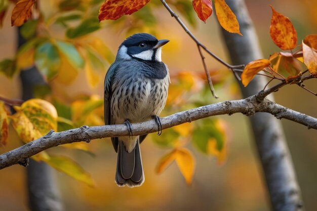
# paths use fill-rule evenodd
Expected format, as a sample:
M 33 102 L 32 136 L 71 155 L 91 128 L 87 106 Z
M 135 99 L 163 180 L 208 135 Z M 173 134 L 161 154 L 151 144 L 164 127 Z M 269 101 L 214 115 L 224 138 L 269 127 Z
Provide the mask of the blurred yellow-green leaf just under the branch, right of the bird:
M 225 134 L 218 125 L 218 119 L 206 118 L 197 122 L 194 129 L 192 142 L 200 151 L 208 154 L 208 142 L 213 139 L 216 141 L 216 149 L 221 151 L 224 146 Z

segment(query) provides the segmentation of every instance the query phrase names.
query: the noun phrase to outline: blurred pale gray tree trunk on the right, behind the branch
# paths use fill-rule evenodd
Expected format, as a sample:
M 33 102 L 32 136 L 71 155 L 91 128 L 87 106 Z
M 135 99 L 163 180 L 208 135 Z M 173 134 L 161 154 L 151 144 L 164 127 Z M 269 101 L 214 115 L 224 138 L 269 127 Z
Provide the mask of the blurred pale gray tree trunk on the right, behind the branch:
M 243 0 L 227 0 L 236 15 L 243 36 L 222 29 L 223 37 L 233 64 L 247 64 L 262 59 L 257 36 Z M 264 77 L 257 76 L 247 88 L 241 87 L 243 96 L 258 93 L 265 86 Z M 272 98 L 271 98 L 272 100 Z M 291 155 L 281 123 L 272 115 L 257 113 L 250 117 L 254 139 L 262 163 L 272 209 L 275 211 L 304 210 Z

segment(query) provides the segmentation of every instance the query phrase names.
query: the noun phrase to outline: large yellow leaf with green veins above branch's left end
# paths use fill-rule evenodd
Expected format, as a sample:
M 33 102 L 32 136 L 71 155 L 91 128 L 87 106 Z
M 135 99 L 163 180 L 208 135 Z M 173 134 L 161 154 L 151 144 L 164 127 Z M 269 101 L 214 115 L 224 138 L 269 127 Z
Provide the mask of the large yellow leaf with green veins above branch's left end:
M 46 135 L 50 130 L 57 130 L 57 111 L 48 101 L 31 99 L 11 116 L 13 128 L 20 139 L 27 143 Z

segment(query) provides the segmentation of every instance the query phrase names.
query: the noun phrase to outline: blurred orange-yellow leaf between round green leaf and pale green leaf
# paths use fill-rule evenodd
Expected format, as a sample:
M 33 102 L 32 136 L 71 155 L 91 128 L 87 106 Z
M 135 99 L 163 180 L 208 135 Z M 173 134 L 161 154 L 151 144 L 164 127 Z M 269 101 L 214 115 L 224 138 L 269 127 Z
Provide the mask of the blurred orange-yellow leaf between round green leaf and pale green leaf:
M 60 54 L 60 60 L 60 69 L 54 80 L 63 85 L 69 85 L 77 77 L 78 70 L 70 64 L 64 54 Z

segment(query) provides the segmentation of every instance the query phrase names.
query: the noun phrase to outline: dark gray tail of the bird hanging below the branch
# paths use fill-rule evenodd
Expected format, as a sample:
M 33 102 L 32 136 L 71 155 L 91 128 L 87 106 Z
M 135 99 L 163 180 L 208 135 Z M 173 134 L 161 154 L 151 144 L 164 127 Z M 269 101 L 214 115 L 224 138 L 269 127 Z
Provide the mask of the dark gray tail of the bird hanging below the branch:
M 130 153 L 122 141 L 118 142 L 115 182 L 118 186 L 130 188 L 141 186 L 144 182 L 139 139 Z

